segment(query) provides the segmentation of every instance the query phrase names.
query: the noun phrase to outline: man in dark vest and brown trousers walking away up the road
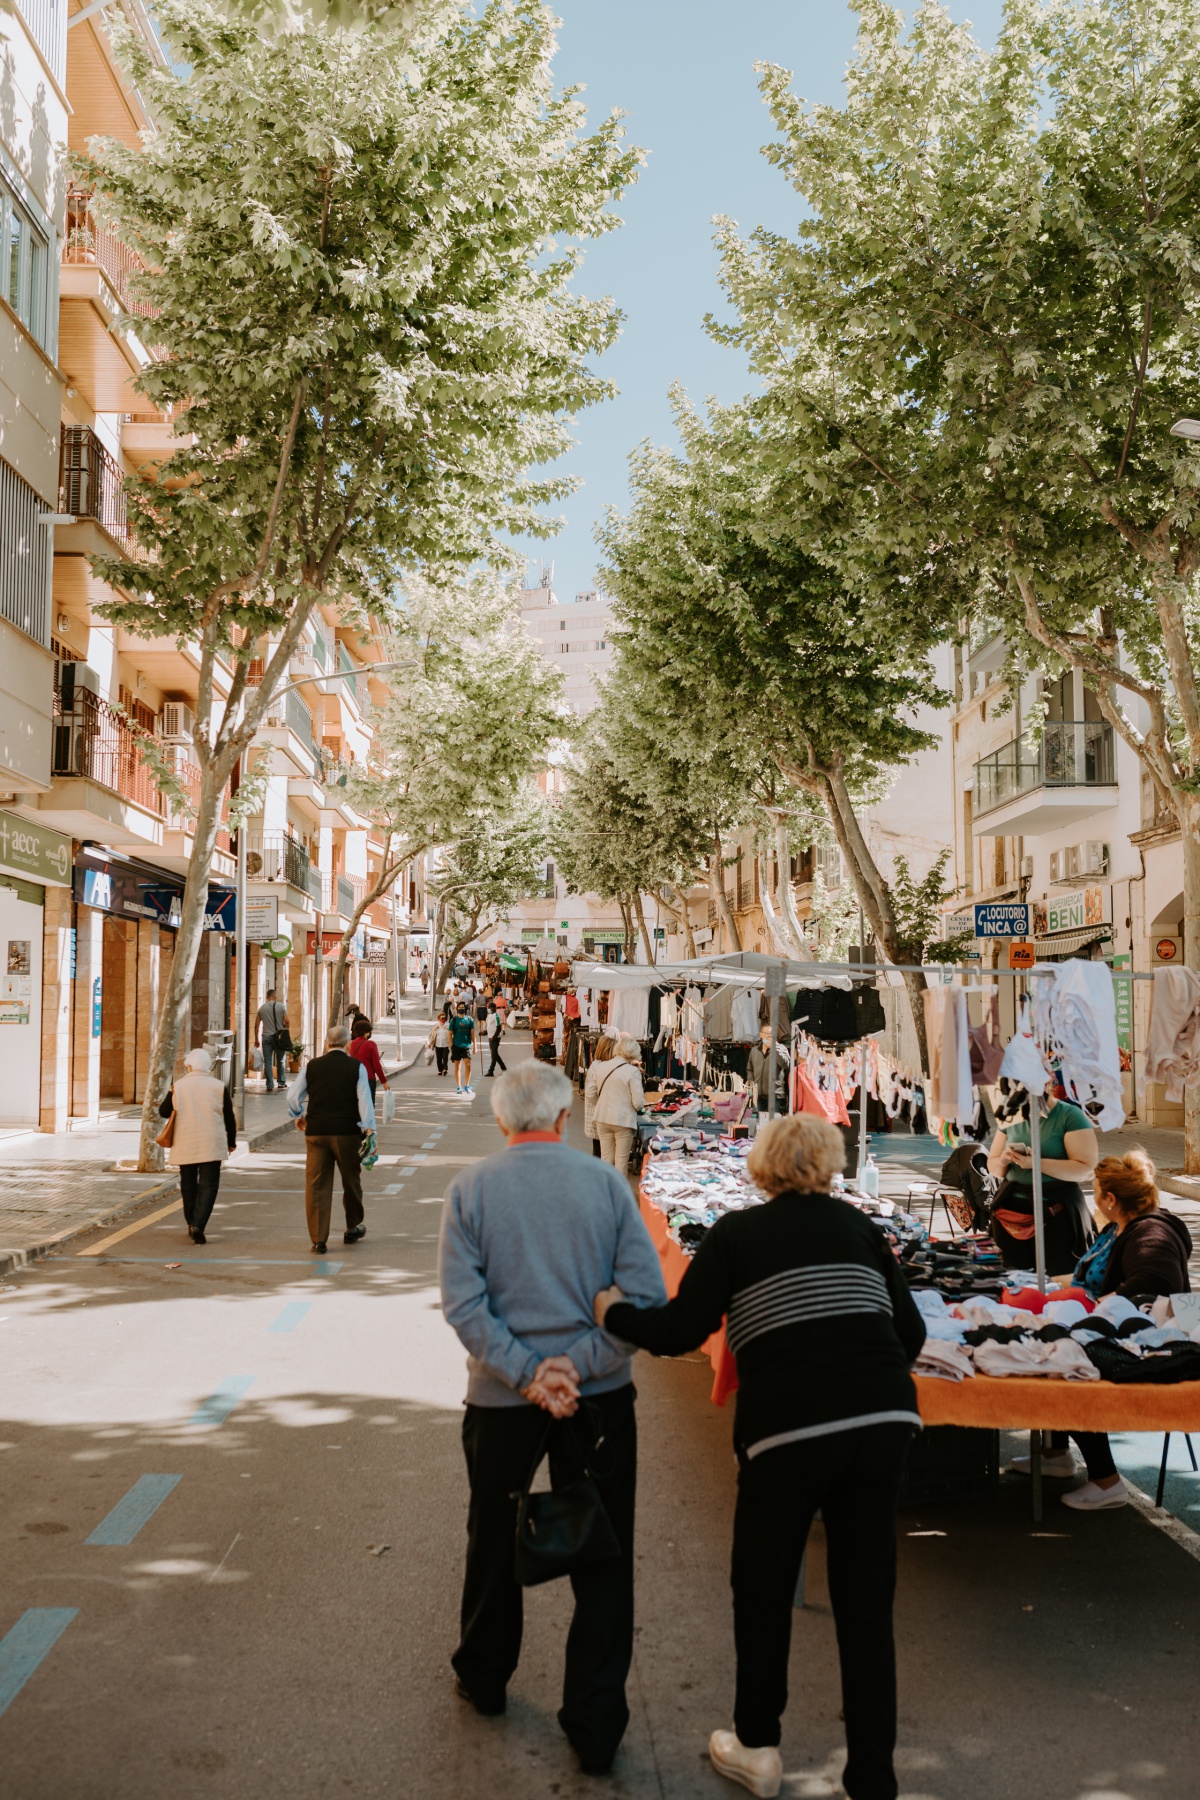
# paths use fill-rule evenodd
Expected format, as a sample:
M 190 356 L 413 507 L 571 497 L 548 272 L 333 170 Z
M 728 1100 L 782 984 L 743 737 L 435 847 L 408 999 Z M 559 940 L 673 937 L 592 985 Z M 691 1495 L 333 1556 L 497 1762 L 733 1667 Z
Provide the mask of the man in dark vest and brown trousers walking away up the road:
M 288 1100 L 295 1129 L 306 1134 L 304 1210 L 308 1235 L 320 1256 L 324 1256 L 329 1240 L 335 1165 L 342 1170 L 342 1204 L 345 1206 L 342 1242 L 358 1244 L 367 1235 L 358 1141 L 363 1130 L 374 1130 L 374 1105 L 367 1071 L 347 1053 L 347 1039 L 345 1026 L 329 1026 L 326 1055 L 313 1057 L 300 1073 L 300 1080 L 293 1084 Z M 306 1107 L 308 1118 L 304 1116 Z

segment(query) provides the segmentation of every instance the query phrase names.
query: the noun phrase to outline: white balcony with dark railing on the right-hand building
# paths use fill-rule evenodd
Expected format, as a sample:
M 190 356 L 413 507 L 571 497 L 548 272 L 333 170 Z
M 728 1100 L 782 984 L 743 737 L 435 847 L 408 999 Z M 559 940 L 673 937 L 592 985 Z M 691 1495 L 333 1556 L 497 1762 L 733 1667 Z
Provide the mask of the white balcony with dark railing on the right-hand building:
M 1117 805 L 1112 725 L 1051 720 L 975 763 L 975 837 L 1038 837 Z

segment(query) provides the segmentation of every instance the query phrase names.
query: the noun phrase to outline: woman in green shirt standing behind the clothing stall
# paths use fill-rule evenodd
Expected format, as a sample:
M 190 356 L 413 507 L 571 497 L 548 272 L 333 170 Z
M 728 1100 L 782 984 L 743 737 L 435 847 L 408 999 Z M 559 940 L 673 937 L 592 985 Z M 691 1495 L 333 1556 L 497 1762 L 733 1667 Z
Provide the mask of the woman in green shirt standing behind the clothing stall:
M 1070 1274 L 1094 1237 L 1083 1183 L 1092 1181 L 1099 1136 L 1083 1107 L 1052 1093 L 1042 1114 L 1045 1273 Z M 1033 1269 L 1033 1152 L 1029 1121 L 1015 1120 L 991 1139 L 988 1168 L 1000 1181 L 991 1202 L 991 1238 L 1006 1269 Z

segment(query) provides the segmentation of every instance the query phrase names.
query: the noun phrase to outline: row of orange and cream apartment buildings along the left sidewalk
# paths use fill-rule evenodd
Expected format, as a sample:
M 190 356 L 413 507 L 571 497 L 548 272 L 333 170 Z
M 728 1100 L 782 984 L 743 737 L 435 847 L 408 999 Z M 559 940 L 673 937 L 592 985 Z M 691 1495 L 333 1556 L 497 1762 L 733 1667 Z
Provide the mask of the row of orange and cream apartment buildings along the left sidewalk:
M 144 736 L 185 794 L 200 779 L 198 646 L 104 619 L 124 583 L 90 565 L 124 558 L 137 590 L 122 477 L 175 445 L 171 419 L 133 387 L 155 355 L 130 284 L 137 261 L 63 173 L 65 146 L 137 144 L 151 122 L 113 58 L 117 7 L 160 59 L 142 0 L 0 13 L 0 1127 L 61 1130 L 140 1103 L 193 846 L 189 808 L 160 790 Z M 383 693 L 367 664 L 381 657 L 378 634 L 324 608 L 250 752 L 270 767 L 246 830 L 248 1013 L 279 985 L 309 1044 L 327 1022 L 326 958 L 383 853 L 345 801 Z M 218 664 L 218 713 L 230 682 Z M 234 1022 L 234 882 L 225 830 L 180 1053 Z M 351 965 L 347 997 L 376 1012 L 389 931 L 390 909 L 374 907 Z

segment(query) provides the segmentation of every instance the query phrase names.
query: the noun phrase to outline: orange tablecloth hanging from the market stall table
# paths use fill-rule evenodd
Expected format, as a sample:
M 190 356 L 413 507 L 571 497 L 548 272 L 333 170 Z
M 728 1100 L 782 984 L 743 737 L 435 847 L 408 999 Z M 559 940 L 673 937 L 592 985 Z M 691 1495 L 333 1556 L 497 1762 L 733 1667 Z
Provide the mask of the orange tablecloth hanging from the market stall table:
M 655 1240 L 667 1294 L 678 1291 L 687 1256 L 667 1237 L 667 1222 L 646 1195 L 642 1219 Z M 725 1330 L 702 1346 L 712 1364 L 712 1404 L 738 1391 L 738 1364 Z M 973 1375 L 939 1381 L 916 1375 L 918 1406 L 927 1426 L 984 1426 L 1002 1431 L 1200 1431 L 1200 1381 L 1164 1388 L 1157 1382 L 1051 1381 L 1042 1375 Z

